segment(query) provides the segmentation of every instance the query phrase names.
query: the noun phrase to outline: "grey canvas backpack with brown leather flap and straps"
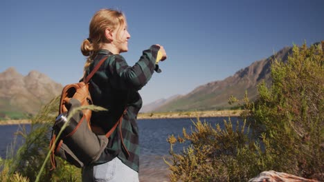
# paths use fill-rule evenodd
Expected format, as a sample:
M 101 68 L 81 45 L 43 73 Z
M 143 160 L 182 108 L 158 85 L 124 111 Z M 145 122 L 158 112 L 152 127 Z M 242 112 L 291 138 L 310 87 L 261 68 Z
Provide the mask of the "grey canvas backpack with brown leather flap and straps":
M 92 104 L 89 81 L 105 59 L 107 57 L 102 58 L 96 67 L 93 68 L 92 72 L 83 78 L 83 81 L 66 85 L 62 90 L 59 114 L 53 125 L 50 142 L 50 149 L 55 145 L 54 150 L 51 151 L 52 169 L 56 168 L 55 156 L 59 156 L 78 168 L 97 161 L 102 151 L 107 147 L 109 136 L 123 119 L 122 115 L 113 128 L 109 132 L 104 133 L 98 130 L 98 128 L 96 129 L 91 126 L 91 110 L 82 110 L 72 116 L 69 125 L 67 125 L 55 143 L 57 134 L 66 122 L 66 118 L 71 113 L 71 110 L 82 105 Z

